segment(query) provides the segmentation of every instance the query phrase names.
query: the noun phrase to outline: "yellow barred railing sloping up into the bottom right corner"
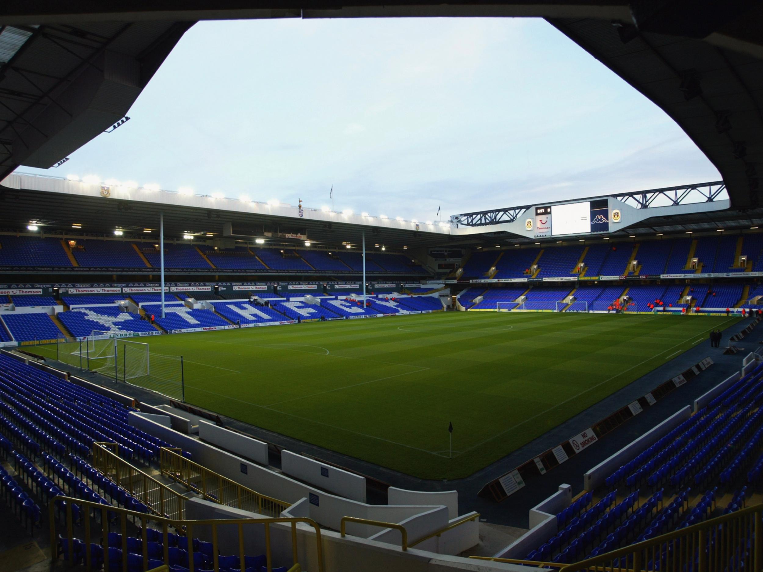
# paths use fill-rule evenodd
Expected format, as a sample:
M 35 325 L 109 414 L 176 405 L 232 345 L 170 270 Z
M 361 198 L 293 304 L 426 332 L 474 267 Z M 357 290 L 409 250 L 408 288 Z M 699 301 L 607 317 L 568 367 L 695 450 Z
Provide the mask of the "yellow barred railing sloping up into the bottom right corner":
M 578 570 L 763 570 L 763 504 L 567 564 Z M 752 564 L 752 566 L 750 565 Z

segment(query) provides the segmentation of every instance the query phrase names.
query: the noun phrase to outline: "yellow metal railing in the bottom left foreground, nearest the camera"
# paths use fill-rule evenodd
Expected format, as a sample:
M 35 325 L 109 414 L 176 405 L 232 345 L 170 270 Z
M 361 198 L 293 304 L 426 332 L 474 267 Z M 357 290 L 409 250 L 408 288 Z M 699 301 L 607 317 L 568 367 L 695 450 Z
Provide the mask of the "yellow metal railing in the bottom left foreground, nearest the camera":
M 75 510 L 73 507 L 77 506 Z M 63 509 L 62 509 L 63 508 Z M 60 515 L 56 515 L 56 512 L 60 511 Z M 128 527 L 137 525 L 140 528 L 136 531 L 136 535 L 140 538 L 140 551 L 138 556 L 143 558 L 142 564 L 140 564 L 141 570 L 149 569 L 149 561 L 161 561 L 163 566 L 170 566 L 172 561 L 170 560 L 169 550 L 169 535 L 170 529 L 175 532 L 185 531 L 185 537 L 192 539 L 196 538 L 194 530 L 200 532 L 204 537 L 201 540 L 211 542 L 211 554 L 212 561 L 208 566 L 208 570 L 214 570 L 214 572 L 220 572 L 220 557 L 219 557 L 219 535 L 221 527 L 229 539 L 236 537 L 238 541 L 237 556 L 239 557 L 239 563 L 243 569 L 243 564 L 246 563 L 246 551 L 244 546 L 244 532 L 245 530 L 251 534 L 253 527 L 262 525 L 264 527 L 264 540 L 265 540 L 265 557 L 266 567 L 268 572 L 272 572 L 272 548 L 270 545 L 272 537 L 272 525 L 279 523 L 286 523 L 291 525 L 291 558 L 292 565 L 289 572 L 300 572 L 301 568 L 298 564 L 298 538 L 297 538 L 297 524 L 304 523 L 310 525 L 315 530 L 315 549 L 317 560 L 317 572 L 323 572 L 324 570 L 324 557 L 320 537 L 320 527 L 312 519 L 307 518 L 277 518 L 277 519 L 206 519 L 206 520 L 177 520 L 166 519 L 161 516 L 147 515 L 145 513 L 137 513 L 133 510 L 121 509 L 116 506 L 103 505 L 99 503 L 91 503 L 86 500 L 80 500 L 70 498 L 68 496 L 57 496 L 54 502 L 49 506 L 49 519 L 50 519 L 50 558 L 55 561 L 59 557 L 59 529 L 62 526 L 60 524 L 60 518 L 63 515 L 63 529 L 66 530 L 66 536 L 62 535 L 62 543 L 66 542 L 66 547 L 63 549 L 64 559 L 69 567 L 76 564 L 84 564 L 85 570 L 90 572 L 91 570 L 100 570 L 101 566 L 103 570 L 118 570 L 118 567 L 109 565 L 110 558 L 119 558 L 121 560 L 122 572 L 127 572 L 128 561 L 130 560 L 130 552 L 127 549 L 127 537 Z M 75 519 L 75 516 L 79 516 Z M 132 522 L 130 522 L 130 520 Z M 160 554 L 153 554 L 149 558 L 150 543 L 148 541 L 148 529 L 150 525 L 153 525 L 154 529 L 159 532 L 159 541 L 156 541 L 156 546 L 159 547 Z M 237 527 L 238 534 L 231 534 L 231 527 Z M 118 546 L 109 545 L 109 535 L 111 529 L 118 529 L 121 534 L 121 543 Z M 100 537 L 100 544 L 98 541 L 94 541 Z M 77 545 L 74 539 L 77 538 L 82 542 L 81 548 L 78 551 Z M 250 537 L 248 537 L 250 538 Z M 63 548 L 63 547 L 62 547 Z M 109 548 L 116 549 L 114 552 Z M 196 559 L 194 558 L 194 543 L 188 541 L 187 551 L 187 567 L 188 572 L 194 572 L 195 568 L 198 570 L 198 566 L 195 566 Z M 185 557 L 184 557 L 185 558 Z M 134 565 L 133 565 L 134 566 Z M 132 567 L 131 567 L 132 568 Z M 161 567 L 156 567 L 161 570 Z

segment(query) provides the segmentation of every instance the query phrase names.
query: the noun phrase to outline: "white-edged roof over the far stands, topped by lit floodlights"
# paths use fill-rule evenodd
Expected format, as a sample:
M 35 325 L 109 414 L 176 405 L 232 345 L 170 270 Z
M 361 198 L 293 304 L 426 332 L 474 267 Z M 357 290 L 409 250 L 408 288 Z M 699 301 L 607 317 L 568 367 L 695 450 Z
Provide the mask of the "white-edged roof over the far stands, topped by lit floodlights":
M 701 188 L 701 185 L 684 186 Z M 665 189 L 642 191 L 640 196 L 649 200 L 652 196 L 650 193 L 659 194 L 663 191 Z M 621 195 L 620 200 L 623 198 Z M 517 207 L 521 211 L 517 217 L 521 220 L 523 213 L 531 208 L 533 207 Z M 182 239 L 187 233 L 198 239 L 224 236 L 254 239 L 271 233 L 274 237 L 281 236 L 283 243 L 301 242 L 306 235 L 307 239 L 317 244 L 336 248 L 342 243 L 359 245 L 362 233 L 365 232 L 367 245 L 380 244 L 391 249 L 401 249 L 403 246 L 511 246 L 558 240 L 556 236 L 543 239 L 520 236 L 504 230 L 509 228 L 509 223 L 485 227 L 468 227 L 450 222 L 440 224 L 437 221 L 427 224 L 428 221 L 417 223 L 412 220 L 326 212 L 311 208 L 310 205 L 305 205 L 300 213 L 298 206 L 294 205 L 243 202 L 201 194 L 185 195 L 175 191 L 112 188 L 100 183 L 89 184 L 40 175 L 14 174 L 0 186 L 0 230 L 5 232 L 24 232 L 27 224 L 36 223 L 43 233 L 113 235 L 115 229 L 121 229 L 129 236 L 153 238 L 158 236 L 159 210 L 164 213 L 165 235 L 169 239 Z M 631 236 L 646 238 L 660 233 L 670 235 L 716 230 L 739 232 L 750 230 L 751 227 L 763 228 L 763 207 L 729 208 L 726 199 L 657 205 L 638 212 L 643 218 L 622 229 L 613 228 L 612 232 L 604 235 L 569 236 L 564 240 L 596 240 L 604 236 L 613 239 L 627 239 Z M 74 228 L 74 224 L 81 227 Z M 150 229 L 151 232 L 146 233 L 144 229 Z

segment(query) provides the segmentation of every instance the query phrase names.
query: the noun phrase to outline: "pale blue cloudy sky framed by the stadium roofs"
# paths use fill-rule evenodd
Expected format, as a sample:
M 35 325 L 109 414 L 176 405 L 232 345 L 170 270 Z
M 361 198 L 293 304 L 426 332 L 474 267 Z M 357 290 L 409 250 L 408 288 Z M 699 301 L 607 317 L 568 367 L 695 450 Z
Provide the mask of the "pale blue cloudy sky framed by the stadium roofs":
M 407 220 L 720 180 L 678 125 L 546 21 L 195 24 L 130 121 L 47 175 Z

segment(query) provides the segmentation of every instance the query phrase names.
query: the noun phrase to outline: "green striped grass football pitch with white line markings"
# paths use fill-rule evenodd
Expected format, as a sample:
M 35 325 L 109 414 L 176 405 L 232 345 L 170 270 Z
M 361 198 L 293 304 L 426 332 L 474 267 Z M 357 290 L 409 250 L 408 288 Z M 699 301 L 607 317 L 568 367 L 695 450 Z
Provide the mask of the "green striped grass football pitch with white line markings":
M 140 341 L 152 354 L 184 356 L 188 403 L 416 477 L 452 479 L 697 343 L 710 355 L 707 333 L 735 320 L 454 312 Z

